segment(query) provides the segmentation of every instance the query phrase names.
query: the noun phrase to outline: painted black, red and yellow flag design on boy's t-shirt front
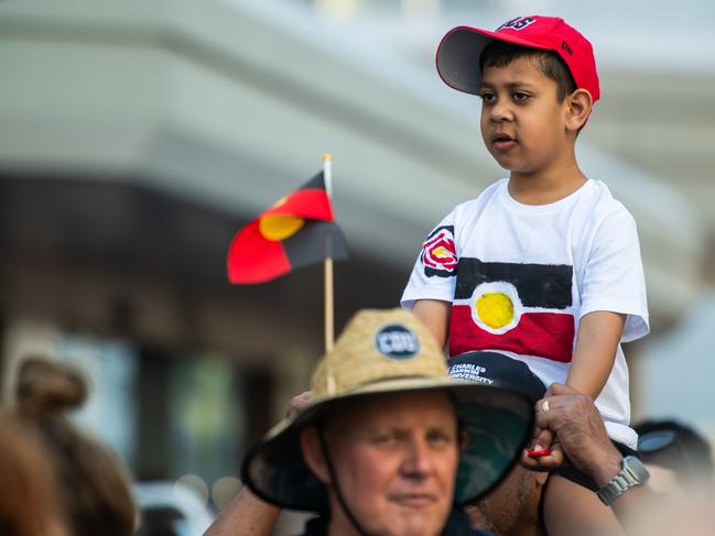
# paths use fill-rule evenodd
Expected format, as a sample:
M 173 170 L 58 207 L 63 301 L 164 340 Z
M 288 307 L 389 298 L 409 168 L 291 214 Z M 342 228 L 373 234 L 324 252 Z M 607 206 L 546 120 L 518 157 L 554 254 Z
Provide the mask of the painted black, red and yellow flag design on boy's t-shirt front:
M 572 266 L 462 258 L 456 271 L 449 355 L 506 350 L 571 362 Z

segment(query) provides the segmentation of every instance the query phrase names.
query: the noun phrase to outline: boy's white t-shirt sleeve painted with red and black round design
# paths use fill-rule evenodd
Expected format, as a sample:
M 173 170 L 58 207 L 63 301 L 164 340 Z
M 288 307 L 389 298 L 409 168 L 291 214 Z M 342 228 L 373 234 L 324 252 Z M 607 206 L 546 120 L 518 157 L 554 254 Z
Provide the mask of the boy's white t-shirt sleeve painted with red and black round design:
M 444 218 L 422 244 L 400 304 L 412 308 L 418 299 L 452 302 L 457 275 L 455 212 Z

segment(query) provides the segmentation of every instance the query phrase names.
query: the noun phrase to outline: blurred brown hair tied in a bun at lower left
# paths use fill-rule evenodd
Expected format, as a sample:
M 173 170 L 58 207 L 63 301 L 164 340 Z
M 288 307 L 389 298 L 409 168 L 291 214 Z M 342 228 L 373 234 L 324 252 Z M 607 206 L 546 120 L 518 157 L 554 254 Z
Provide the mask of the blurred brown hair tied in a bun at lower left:
M 20 365 L 15 393 L 18 414 L 50 457 L 71 534 L 131 535 L 137 511 L 118 460 L 67 418 L 87 396 L 82 374 L 59 362 L 28 358 Z

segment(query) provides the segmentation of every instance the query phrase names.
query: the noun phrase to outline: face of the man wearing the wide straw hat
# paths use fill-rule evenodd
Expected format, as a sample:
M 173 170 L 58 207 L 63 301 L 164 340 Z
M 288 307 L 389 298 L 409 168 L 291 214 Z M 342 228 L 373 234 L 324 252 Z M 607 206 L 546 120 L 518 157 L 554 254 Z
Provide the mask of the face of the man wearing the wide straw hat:
M 452 507 L 458 463 L 454 406 L 444 393 L 355 402 L 326 431 L 339 489 L 370 534 L 434 536 Z M 353 527 L 331 489 L 336 534 Z M 333 527 L 333 525 L 332 525 Z

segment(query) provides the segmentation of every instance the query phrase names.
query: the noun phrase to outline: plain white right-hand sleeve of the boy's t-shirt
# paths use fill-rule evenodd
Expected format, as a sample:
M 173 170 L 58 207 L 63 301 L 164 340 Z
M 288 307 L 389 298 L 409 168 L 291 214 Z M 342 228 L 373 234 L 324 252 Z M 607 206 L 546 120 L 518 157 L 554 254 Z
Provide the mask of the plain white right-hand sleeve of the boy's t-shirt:
M 621 342 L 640 339 L 650 330 L 636 220 L 622 207 L 596 230 L 584 272 L 581 317 L 595 310 L 626 315 Z

